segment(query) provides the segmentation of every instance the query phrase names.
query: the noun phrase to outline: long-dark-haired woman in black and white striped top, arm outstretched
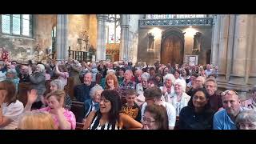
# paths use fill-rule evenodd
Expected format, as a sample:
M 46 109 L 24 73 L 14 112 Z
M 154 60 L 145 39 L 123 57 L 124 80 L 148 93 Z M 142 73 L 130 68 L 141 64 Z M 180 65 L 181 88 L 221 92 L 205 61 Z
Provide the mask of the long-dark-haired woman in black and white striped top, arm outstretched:
M 84 130 L 121 130 L 141 129 L 142 124 L 130 118 L 127 114 L 120 113 L 121 101 L 115 90 L 104 90 L 100 100 L 100 110 L 91 111 L 86 118 Z

